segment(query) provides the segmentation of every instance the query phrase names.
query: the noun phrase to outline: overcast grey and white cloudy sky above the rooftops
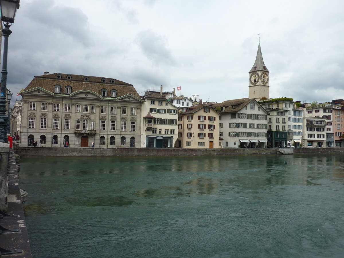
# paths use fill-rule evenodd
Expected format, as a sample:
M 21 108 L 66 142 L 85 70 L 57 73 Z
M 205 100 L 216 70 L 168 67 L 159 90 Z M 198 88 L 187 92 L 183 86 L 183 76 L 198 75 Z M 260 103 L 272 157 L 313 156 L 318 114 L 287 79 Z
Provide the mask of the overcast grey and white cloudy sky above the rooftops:
M 15 94 L 43 72 L 111 77 L 221 102 L 248 97 L 258 33 L 270 98 L 344 98 L 344 1 L 22 0 Z M 1 60 L 2 61 L 2 60 Z M 14 98 L 14 97 L 13 97 Z M 15 99 L 15 98 L 14 98 Z

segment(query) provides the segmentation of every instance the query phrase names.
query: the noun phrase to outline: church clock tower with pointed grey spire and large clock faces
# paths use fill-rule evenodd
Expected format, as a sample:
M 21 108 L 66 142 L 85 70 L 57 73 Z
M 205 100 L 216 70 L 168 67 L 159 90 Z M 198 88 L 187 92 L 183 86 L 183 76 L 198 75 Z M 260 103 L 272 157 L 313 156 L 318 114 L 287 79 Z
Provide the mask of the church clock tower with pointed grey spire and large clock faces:
M 266 68 L 261 55 L 260 42 L 256 62 L 249 72 L 248 97 L 257 101 L 262 97 L 269 98 L 269 70 Z

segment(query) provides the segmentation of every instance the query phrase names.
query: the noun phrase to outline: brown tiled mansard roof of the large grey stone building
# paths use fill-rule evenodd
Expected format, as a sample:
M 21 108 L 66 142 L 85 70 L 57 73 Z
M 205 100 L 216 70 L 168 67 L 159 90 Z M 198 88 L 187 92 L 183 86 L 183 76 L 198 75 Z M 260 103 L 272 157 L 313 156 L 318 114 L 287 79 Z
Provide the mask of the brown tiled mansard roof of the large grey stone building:
M 47 74 L 41 76 L 35 76 L 35 78 L 29 83 L 24 90 L 33 89 L 36 87 L 41 87 L 50 92 L 54 92 L 54 86 L 61 86 L 61 93 L 64 93 L 66 86 L 72 87 L 72 93 L 78 90 L 92 90 L 93 92 L 101 95 L 101 89 L 107 89 L 108 97 L 111 96 L 111 89 L 117 90 L 117 97 L 121 97 L 127 94 L 132 94 L 135 97 L 140 98 L 136 89 L 132 84 L 122 82 L 120 80 L 115 80 L 115 83 L 109 83 L 112 78 L 105 77 L 95 77 L 95 76 L 84 76 L 84 75 L 74 75 L 74 74 L 60 74 L 61 79 L 56 78 L 57 73 Z M 71 75 L 72 79 L 66 79 L 67 75 Z M 85 81 L 84 77 L 88 77 L 89 80 Z M 101 82 L 101 79 L 106 79 L 106 82 Z

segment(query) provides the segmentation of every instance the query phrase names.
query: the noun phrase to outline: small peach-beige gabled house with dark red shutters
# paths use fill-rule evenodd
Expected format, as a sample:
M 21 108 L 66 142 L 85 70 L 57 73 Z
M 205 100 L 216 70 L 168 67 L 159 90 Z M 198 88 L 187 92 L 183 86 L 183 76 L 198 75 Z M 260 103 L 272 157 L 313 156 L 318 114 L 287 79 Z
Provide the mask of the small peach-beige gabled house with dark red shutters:
M 222 148 L 219 139 L 219 116 L 211 106 L 198 105 L 178 116 L 178 139 L 175 147 L 191 149 Z

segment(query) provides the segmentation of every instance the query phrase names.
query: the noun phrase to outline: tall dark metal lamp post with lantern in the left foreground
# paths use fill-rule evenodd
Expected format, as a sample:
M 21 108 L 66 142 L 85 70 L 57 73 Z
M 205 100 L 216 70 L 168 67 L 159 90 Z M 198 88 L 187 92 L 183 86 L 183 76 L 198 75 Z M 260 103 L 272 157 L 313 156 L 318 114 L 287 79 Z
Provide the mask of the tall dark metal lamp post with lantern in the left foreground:
M 6 115 L 6 83 L 7 83 L 7 50 L 8 50 L 8 37 L 11 35 L 12 31 L 10 26 L 14 23 L 15 13 L 19 8 L 20 0 L 0 0 L 1 8 L 1 21 L 5 29 L 2 29 L 2 34 L 4 36 L 3 44 L 3 61 L 2 61 L 2 71 L 1 71 L 1 90 L 0 90 L 0 142 L 6 142 L 7 140 L 7 128 L 10 122 L 8 116 Z M 5 24 L 6 23 L 6 24 Z M 10 107 L 10 106 L 9 106 Z

